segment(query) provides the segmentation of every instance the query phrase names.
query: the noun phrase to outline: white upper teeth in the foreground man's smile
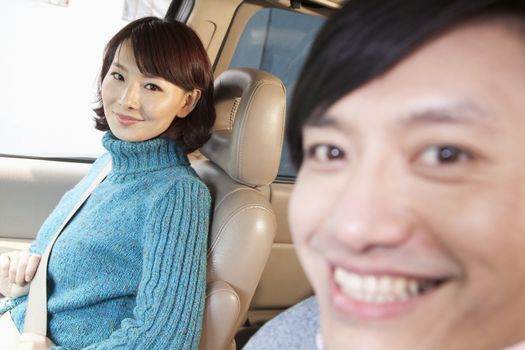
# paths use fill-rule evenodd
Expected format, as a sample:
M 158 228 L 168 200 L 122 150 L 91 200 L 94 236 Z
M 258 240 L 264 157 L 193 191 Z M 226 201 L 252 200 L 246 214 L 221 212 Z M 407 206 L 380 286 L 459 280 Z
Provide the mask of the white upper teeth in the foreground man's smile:
M 437 285 L 436 281 L 358 275 L 339 267 L 335 269 L 335 281 L 349 298 L 380 304 L 405 301 L 427 292 Z

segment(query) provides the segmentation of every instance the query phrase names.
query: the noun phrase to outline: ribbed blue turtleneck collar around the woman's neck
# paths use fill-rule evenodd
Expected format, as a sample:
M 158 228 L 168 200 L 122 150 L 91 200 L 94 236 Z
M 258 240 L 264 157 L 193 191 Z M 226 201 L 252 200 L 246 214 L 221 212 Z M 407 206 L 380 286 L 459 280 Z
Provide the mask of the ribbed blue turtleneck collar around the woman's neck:
M 111 154 L 113 172 L 136 173 L 155 171 L 177 165 L 189 165 L 188 157 L 177 141 L 154 138 L 142 142 L 128 142 L 106 132 L 104 148 Z

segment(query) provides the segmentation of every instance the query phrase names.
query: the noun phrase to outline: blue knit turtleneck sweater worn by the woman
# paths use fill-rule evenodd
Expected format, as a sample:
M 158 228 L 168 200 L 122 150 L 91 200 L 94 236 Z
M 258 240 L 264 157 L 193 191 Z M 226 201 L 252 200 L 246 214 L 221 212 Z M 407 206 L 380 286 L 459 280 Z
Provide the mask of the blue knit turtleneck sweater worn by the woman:
M 66 193 L 30 251 L 47 243 L 110 159 L 113 169 L 55 243 L 48 337 L 59 349 L 195 349 L 206 284 L 210 195 L 174 141 L 109 151 Z M 0 306 L 23 329 L 27 296 Z

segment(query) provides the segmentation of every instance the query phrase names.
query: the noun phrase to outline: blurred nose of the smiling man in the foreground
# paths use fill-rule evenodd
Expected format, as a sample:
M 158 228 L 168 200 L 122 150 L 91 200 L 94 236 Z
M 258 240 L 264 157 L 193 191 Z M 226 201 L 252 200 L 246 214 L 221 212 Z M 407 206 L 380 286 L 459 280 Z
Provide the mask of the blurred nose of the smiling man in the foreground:
M 414 230 L 406 178 L 395 165 L 357 169 L 334 201 L 325 233 L 340 248 L 355 253 L 406 242 Z

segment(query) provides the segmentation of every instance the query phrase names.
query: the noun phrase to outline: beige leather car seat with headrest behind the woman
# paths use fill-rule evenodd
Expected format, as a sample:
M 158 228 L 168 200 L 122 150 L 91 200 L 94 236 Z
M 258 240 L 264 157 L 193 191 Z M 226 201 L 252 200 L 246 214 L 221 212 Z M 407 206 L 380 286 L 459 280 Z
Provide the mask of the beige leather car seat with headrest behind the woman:
M 269 184 L 283 143 L 285 88 L 275 76 L 232 69 L 215 81 L 217 121 L 193 166 L 213 197 L 206 311 L 199 349 L 235 349 L 235 333 L 276 233 Z

